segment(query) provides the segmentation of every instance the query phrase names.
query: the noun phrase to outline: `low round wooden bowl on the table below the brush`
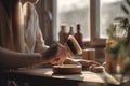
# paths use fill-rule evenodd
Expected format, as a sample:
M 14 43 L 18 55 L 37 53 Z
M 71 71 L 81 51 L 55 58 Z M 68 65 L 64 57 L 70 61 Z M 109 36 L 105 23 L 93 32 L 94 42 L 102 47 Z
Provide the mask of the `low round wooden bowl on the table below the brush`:
M 82 66 L 80 64 L 53 66 L 52 71 L 54 74 L 78 74 L 81 73 Z

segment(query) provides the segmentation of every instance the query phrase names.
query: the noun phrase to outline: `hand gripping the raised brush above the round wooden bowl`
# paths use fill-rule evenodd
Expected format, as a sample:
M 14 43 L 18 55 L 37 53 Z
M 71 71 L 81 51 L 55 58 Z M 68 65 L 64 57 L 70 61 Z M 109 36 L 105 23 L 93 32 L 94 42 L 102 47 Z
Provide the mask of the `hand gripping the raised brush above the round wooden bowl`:
M 51 62 L 52 64 L 63 64 L 64 60 L 68 56 L 68 52 L 64 45 L 57 43 L 52 45 L 42 55 L 43 58 L 49 60 L 49 62 Z

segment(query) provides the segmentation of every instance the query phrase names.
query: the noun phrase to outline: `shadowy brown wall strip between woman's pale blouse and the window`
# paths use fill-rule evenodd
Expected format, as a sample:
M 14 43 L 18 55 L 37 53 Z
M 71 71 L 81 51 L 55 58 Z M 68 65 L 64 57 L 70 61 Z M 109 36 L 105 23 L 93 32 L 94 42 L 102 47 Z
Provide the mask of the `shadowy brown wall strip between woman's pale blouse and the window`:
M 40 28 L 47 45 L 51 45 L 53 43 L 53 26 L 52 20 L 50 20 L 49 17 L 49 12 L 52 13 L 52 0 L 39 0 L 36 4 Z

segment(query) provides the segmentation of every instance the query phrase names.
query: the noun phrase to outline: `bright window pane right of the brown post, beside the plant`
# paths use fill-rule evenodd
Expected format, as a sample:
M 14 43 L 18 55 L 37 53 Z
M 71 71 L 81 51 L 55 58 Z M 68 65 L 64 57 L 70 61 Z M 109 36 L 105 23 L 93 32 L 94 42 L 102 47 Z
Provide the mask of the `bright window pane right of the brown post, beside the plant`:
M 116 17 L 127 16 L 121 5 L 126 0 L 101 0 L 101 30 L 100 38 L 106 38 L 106 29 Z

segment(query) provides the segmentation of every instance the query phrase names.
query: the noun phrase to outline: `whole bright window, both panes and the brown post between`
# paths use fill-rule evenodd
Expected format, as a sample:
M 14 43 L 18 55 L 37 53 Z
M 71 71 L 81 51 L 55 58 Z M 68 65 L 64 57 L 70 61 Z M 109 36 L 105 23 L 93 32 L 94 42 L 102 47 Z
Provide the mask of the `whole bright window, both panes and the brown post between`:
M 113 20 L 128 16 L 122 9 L 122 5 L 129 9 L 126 1 L 129 0 L 56 0 L 56 37 L 62 24 L 67 25 L 68 31 L 69 26 L 76 29 L 76 24 L 79 23 L 84 41 L 90 41 L 92 45 L 105 44 L 106 29 Z

